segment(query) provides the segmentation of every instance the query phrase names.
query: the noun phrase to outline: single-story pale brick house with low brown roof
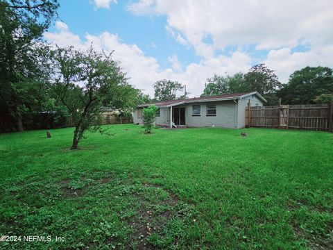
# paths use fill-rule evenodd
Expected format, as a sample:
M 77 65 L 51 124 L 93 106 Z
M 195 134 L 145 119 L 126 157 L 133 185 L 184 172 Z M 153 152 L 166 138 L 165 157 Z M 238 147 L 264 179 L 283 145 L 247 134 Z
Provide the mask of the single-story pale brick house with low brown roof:
M 159 108 L 155 123 L 160 126 L 244 128 L 248 102 L 263 106 L 266 99 L 258 92 L 246 92 L 145 103 L 137 106 L 133 123 L 142 124 L 142 109 L 155 105 Z

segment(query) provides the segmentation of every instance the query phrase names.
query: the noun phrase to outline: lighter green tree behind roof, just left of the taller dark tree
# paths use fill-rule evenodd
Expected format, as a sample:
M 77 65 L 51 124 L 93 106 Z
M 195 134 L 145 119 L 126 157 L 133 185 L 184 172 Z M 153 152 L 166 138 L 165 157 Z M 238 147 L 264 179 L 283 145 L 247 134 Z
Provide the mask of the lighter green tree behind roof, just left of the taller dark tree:
M 244 92 L 244 74 L 237 73 L 234 76 L 219 76 L 214 74 L 212 78 L 207 78 L 205 90 L 201 96 L 207 97 L 219 94 L 231 94 Z

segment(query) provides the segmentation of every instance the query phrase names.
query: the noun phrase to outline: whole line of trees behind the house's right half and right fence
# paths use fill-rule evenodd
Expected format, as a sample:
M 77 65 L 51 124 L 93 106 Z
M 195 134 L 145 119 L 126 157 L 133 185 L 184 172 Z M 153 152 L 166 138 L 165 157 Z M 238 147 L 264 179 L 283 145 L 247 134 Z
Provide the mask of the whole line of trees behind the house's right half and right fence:
M 273 70 L 259 64 L 246 74 L 215 74 L 207 79 L 202 96 L 255 91 L 262 94 L 267 105 L 278 104 L 279 98 L 286 104 L 328 103 L 333 97 L 332 69 L 321 66 L 305 67 L 293 72 L 288 83 L 282 84 Z

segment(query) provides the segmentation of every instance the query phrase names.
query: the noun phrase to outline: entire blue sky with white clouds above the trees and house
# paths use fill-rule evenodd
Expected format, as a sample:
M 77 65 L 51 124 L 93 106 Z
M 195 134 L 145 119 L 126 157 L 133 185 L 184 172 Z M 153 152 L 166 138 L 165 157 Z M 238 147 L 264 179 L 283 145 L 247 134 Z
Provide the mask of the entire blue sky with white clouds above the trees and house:
M 333 67 L 332 0 L 60 0 L 58 12 L 47 41 L 114 51 L 151 95 L 167 78 L 199 96 L 208 77 L 257 63 L 282 83 L 307 65 Z

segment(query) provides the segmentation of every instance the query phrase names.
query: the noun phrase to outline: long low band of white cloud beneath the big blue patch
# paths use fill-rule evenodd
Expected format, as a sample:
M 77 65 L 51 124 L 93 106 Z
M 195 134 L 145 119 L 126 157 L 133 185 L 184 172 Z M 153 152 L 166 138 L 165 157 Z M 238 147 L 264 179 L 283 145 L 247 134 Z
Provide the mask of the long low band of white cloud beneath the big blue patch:
M 58 23 L 56 28 L 57 31 L 54 33 L 44 33 L 44 38 L 60 47 L 73 45 L 78 49 L 87 49 L 90 44 L 93 44 L 95 49 L 103 49 L 105 52 L 114 51 L 113 58 L 119 60 L 121 67 L 125 72 L 128 72 L 129 82 L 151 95 L 153 95 L 153 83 L 166 78 L 186 84 L 187 91 L 191 93 L 191 96 L 199 96 L 205 88 L 205 80 L 208 77 L 215 73 L 244 72 L 251 63 L 249 56 L 237 51 L 232 53 L 230 57 L 203 58 L 200 63 L 191 63 L 183 69 L 175 54 L 168 58 L 173 67 L 161 69 L 155 58 L 146 56 L 136 44 L 121 42 L 117 34 L 104 32 L 100 35 L 91 35 L 87 33 L 85 39 L 81 40 L 78 35 L 71 33 L 63 23 Z

